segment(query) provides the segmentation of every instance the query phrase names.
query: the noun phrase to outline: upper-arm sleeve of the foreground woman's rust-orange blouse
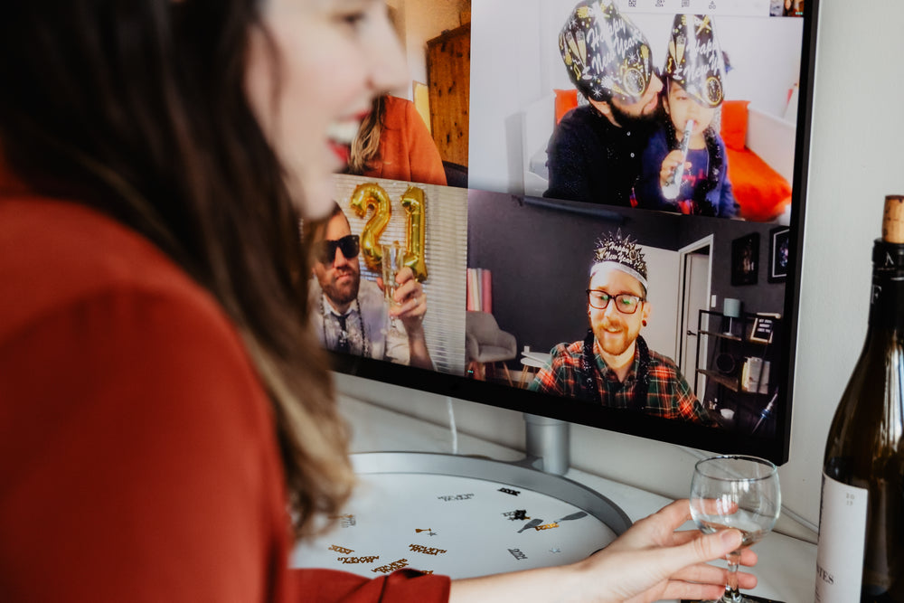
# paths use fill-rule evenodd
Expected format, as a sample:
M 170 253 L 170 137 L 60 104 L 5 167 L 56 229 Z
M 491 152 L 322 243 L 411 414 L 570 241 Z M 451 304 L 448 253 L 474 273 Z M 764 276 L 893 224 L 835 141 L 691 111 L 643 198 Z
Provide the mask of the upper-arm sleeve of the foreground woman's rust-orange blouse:
M 4 600 L 287 594 L 268 401 L 210 298 L 76 300 L 0 342 L 0 367 Z

